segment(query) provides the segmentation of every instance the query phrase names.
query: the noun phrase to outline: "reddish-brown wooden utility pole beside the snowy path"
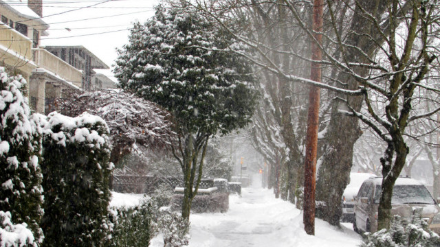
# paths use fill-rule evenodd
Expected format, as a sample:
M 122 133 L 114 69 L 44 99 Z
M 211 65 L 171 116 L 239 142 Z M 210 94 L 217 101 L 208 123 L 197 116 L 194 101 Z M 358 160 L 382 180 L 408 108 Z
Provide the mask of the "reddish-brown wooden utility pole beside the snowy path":
M 315 82 L 321 81 L 320 61 L 322 54 L 322 12 L 323 0 L 314 0 L 313 30 L 314 40 L 311 40 L 311 70 L 310 79 Z M 318 121 L 320 89 L 310 86 L 309 92 L 309 115 L 307 119 L 306 154 L 304 165 L 304 228 L 309 235 L 315 235 L 315 189 L 316 189 L 316 152 L 318 146 Z

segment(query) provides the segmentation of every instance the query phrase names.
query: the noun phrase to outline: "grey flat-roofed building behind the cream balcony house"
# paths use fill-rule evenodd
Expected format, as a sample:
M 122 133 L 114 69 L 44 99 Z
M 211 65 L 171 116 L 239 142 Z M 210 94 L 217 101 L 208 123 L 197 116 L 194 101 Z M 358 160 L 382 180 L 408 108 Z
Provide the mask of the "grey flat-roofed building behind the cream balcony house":
M 110 85 L 109 87 L 102 86 L 111 84 L 112 81 L 106 75 L 102 73 L 97 74 L 95 71 L 95 69 L 110 69 L 110 67 L 82 45 L 46 46 L 45 49 L 76 69 L 83 71 L 83 79 L 81 81 L 82 89 L 113 88 L 114 85 Z

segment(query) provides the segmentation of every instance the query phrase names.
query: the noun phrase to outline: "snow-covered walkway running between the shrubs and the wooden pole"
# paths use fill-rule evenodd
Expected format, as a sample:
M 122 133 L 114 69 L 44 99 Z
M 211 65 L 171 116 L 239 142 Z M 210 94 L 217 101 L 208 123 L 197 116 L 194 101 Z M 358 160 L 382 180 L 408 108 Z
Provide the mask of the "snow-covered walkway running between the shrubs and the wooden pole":
M 316 221 L 316 236 L 307 235 L 300 211 L 261 188 L 245 188 L 241 197 L 230 196 L 227 213 L 195 213 L 190 221 L 189 247 L 354 247 L 362 242 L 351 229 L 321 220 Z M 157 240 L 152 246 L 163 246 Z

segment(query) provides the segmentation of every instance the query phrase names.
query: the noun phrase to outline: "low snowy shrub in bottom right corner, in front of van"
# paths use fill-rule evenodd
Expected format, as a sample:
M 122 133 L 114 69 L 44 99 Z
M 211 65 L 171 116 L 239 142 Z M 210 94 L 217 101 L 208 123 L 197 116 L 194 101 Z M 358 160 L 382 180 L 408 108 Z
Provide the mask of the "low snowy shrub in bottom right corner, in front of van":
M 428 223 L 420 215 L 412 217 L 410 222 L 395 215 L 390 229 L 382 229 L 366 234 L 361 247 L 434 247 L 440 246 L 439 235 L 428 229 Z

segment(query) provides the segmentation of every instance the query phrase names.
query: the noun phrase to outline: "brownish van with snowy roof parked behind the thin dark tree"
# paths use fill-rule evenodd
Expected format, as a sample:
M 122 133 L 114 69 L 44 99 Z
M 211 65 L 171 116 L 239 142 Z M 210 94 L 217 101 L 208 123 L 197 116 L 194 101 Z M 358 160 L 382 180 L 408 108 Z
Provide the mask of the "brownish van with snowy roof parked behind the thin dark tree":
M 356 232 L 377 231 L 381 185 L 382 178 L 369 178 L 362 183 L 355 198 L 353 229 Z M 415 210 L 421 209 L 421 217 L 428 223 L 430 230 L 440 233 L 440 207 L 428 189 L 419 181 L 412 178 L 397 178 L 391 203 L 391 214 L 406 217 L 408 220 Z

